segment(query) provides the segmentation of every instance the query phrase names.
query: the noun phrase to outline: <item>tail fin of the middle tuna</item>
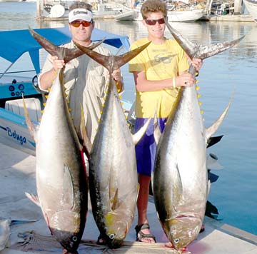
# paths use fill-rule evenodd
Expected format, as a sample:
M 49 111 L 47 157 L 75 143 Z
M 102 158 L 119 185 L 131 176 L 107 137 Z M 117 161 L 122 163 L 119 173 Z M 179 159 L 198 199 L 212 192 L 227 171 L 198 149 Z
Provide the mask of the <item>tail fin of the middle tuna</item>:
M 96 51 L 92 51 L 84 46 L 81 46 L 80 44 L 77 44 L 75 41 L 74 44 L 79 49 L 81 49 L 81 51 L 84 51 L 86 55 L 91 57 L 91 59 L 94 59 L 94 61 L 107 68 L 109 72 L 112 72 L 112 70 L 116 70 L 117 68 L 120 68 L 121 66 L 129 62 L 131 59 L 133 59 L 133 57 L 143 51 L 143 49 L 146 49 L 146 47 L 151 44 L 151 41 L 141 47 L 138 47 L 137 49 L 133 49 L 132 51 L 122 54 L 121 56 L 104 56 L 97 53 Z

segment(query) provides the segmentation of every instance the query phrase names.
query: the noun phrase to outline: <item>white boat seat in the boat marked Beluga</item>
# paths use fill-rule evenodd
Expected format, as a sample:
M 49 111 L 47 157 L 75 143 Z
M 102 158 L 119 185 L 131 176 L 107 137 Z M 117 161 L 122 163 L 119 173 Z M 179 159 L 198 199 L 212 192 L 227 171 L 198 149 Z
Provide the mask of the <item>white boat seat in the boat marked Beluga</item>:
M 24 98 L 24 101 L 31 120 L 39 122 L 41 118 L 41 103 L 39 98 Z M 4 108 L 17 115 L 24 116 L 24 103 L 22 98 L 6 101 Z

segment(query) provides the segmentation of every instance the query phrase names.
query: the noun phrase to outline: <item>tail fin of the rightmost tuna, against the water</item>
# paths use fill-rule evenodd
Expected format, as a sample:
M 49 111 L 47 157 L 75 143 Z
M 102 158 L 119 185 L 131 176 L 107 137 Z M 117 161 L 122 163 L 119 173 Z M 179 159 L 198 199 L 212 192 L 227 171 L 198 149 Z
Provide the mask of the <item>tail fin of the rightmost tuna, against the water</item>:
M 241 41 L 244 37 L 244 36 L 241 36 L 239 39 L 236 39 L 233 41 L 226 41 L 224 43 L 201 46 L 198 44 L 194 44 L 193 42 L 183 37 L 176 29 L 173 29 L 173 27 L 170 24 L 168 24 L 168 21 L 166 21 L 166 26 L 168 30 L 171 32 L 174 39 L 176 39 L 178 44 L 186 52 L 186 54 L 190 57 L 190 59 L 198 58 L 203 60 L 208 57 L 219 54 L 238 44 L 238 42 Z

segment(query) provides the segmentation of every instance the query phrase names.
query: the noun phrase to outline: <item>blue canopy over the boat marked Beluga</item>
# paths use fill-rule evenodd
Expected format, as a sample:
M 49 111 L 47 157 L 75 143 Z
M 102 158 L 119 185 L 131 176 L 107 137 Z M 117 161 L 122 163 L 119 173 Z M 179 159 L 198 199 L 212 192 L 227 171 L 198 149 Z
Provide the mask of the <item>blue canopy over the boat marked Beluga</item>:
M 34 29 L 38 34 L 44 36 L 55 45 L 66 44 L 71 41 L 71 32 L 69 27 Z M 92 41 L 101 41 L 105 38 L 104 43 L 119 48 L 125 46 L 129 50 L 129 37 L 111 34 L 106 31 L 94 29 Z M 12 64 L 21 57 L 25 52 L 29 52 L 31 61 L 36 73 L 40 72 L 39 49 L 41 45 L 31 36 L 29 29 L 0 31 L 0 56 Z

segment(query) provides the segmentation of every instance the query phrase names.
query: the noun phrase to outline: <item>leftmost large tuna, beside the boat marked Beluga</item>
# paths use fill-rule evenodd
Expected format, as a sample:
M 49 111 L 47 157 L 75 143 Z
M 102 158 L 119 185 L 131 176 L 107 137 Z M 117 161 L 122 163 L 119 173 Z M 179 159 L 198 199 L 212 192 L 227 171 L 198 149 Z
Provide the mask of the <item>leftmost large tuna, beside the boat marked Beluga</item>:
M 39 44 L 65 62 L 81 56 L 79 49 L 54 46 L 31 30 Z M 96 45 L 97 46 L 97 45 Z M 26 112 L 26 123 L 36 141 L 36 189 L 30 195 L 42 210 L 47 225 L 67 253 L 76 253 L 86 223 L 88 181 L 82 146 L 71 120 L 64 92 L 64 68 L 51 86 L 36 131 Z

